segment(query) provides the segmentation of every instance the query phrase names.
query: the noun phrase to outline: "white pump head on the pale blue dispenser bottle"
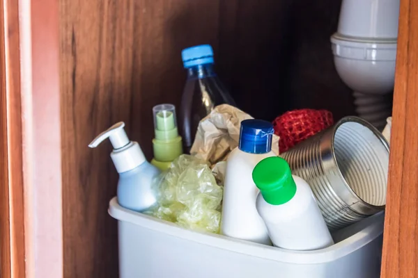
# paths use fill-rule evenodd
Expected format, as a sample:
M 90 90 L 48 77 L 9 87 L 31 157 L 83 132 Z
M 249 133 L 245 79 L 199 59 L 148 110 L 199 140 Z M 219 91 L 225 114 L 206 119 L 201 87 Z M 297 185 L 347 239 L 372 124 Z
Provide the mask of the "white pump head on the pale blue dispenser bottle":
M 127 138 L 124 122 L 118 122 L 100 133 L 88 147 L 95 148 L 109 138 L 114 150 L 110 156 L 118 173 L 130 171 L 146 161 L 144 153 L 137 142 Z

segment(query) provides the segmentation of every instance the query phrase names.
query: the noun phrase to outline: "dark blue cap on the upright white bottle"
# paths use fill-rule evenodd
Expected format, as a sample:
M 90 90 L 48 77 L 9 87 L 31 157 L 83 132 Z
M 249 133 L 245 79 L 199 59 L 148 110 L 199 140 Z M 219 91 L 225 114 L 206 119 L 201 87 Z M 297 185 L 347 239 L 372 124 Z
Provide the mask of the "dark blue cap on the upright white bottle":
M 267 154 L 272 149 L 273 125 L 263 120 L 243 120 L 238 148 L 250 154 Z

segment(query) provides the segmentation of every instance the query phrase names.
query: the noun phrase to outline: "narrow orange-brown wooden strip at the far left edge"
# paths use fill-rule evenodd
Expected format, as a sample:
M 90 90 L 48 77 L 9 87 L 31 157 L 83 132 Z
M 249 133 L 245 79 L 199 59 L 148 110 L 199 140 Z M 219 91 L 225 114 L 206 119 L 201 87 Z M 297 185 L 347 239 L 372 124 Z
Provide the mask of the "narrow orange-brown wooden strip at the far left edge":
M 24 277 L 24 207 L 17 1 L 0 6 L 0 277 Z

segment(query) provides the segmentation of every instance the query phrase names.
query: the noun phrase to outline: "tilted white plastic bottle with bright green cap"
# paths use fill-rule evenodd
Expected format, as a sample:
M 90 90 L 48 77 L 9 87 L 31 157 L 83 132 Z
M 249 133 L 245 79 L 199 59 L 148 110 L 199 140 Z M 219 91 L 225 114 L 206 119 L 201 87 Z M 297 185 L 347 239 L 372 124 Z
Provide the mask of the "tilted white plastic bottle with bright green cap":
M 280 157 L 265 158 L 252 177 L 260 189 L 257 211 L 274 246 L 318 250 L 334 244 L 309 184 Z

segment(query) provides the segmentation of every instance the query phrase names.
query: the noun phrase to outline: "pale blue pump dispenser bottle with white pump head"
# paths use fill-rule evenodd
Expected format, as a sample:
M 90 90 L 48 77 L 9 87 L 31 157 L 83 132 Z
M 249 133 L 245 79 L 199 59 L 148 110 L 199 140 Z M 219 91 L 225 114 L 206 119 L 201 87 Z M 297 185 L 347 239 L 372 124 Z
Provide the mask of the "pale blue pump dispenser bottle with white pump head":
M 123 122 L 114 124 L 100 133 L 88 147 L 98 147 L 109 138 L 114 147 L 110 157 L 119 173 L 118 203 L 132 211 L 145 211 L 157 202 L 152 185 L 160 170 L 146 161 L 138 143 L 127 138 L 124 127 Z

